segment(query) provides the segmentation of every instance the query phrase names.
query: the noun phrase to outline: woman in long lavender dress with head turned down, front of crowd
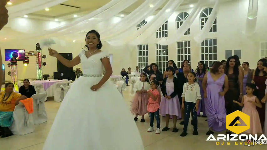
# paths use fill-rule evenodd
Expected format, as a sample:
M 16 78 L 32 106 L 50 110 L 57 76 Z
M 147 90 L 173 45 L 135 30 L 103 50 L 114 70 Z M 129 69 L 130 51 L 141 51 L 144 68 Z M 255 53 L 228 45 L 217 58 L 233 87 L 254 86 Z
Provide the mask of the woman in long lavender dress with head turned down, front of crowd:
M 228 90 L 228 78 L 222 73 L 222 69 L 223 64 L 215 62 L 210 72 L 205 74 L 202 82 L 209 127 L 206 135 L 213 134 L 213 131 L 221 132 L 226 130 L 224 94 Z

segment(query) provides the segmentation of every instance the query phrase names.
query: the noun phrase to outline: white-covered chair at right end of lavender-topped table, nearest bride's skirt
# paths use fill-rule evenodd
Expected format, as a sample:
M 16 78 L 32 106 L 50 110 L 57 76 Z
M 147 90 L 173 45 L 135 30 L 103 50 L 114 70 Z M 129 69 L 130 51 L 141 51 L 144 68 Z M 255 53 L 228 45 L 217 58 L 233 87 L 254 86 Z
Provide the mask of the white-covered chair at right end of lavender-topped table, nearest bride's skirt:
M 69 90 L 69 86 L 66 83 L 57 83 L 56 90 L 54 94 L 54 101 L 55 102 L 62 102 L 64 99 L 64 96 Z

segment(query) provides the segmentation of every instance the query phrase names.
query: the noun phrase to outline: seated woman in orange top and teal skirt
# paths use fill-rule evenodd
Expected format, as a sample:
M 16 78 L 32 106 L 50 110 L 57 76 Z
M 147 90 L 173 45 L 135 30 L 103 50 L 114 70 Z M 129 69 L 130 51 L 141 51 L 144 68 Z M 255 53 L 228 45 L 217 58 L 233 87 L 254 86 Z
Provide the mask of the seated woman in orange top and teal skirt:
M 5 88 L 6 91 L 0 93 L 0 136 L 2 138 L 13 135 L 8 128 L 13 123 L 13 111 L 20 100 L 27 98 L 24 95 L 13 92 L 13 83 L 6 83 Z

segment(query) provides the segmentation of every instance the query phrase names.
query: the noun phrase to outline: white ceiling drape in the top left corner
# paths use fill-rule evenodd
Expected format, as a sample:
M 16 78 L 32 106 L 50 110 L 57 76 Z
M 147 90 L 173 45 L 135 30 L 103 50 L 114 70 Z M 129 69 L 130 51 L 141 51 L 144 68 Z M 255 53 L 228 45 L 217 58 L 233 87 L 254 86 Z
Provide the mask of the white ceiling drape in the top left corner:
M 68 0 L 30 0 L 21 4 L 8 7 L 8 19 L 21 17 L 26 14 L 49 8 Z

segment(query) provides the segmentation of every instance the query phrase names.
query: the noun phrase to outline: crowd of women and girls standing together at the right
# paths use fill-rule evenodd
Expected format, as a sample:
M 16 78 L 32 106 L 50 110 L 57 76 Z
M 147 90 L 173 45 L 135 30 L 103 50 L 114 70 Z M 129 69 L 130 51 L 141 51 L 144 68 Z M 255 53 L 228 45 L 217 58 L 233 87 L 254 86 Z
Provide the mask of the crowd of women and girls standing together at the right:
M 178 132 L 176 122 L 177 119 L 182 119 L 180 124 L 184 128 L 180 136 L 186 136 L 191 114 L 193 135 L 198 135 L 197 116 L 200 117 L 202 112 L 201 117 L 207 117 L 207 135 L 221 131 L 232 134 L 226 130 L 225 118 L 239 110 L 250 116 L 250 129 L 245 133 L 267 135 L 267 123 L 264 125 L 267 59 L 260 59 L 255 70 L 249 68 L 248 62 L 241 66 L 236 55 L 229 57 L 227 61 L 213 62 L 211 69 L 200 61 L 195 72 L 188 60 L 183 61 L 182 68 L 177 68 L 173 60 L 168 61 L 167 65 L 163 73 L 156 63 L 146 66 L 140 81 L 134 87 L 136 96 L 131 111 L 135 114 L 135 121 L 138 116 L 142 116 L 141 122 L 145 122 L 146 113 L 150 114 L 148 132 L 154 131 L 154 117 L 157 120 L 156 134 L 161 132 L 158 117 L 161 114 L 166 118 L 162 131 L 170 129 L 169 119 L 172 118 L 172 132 Z M 136 71 L 138 70 L 136 67 Z M 126 73 L 131 73 L 131 68 Z

